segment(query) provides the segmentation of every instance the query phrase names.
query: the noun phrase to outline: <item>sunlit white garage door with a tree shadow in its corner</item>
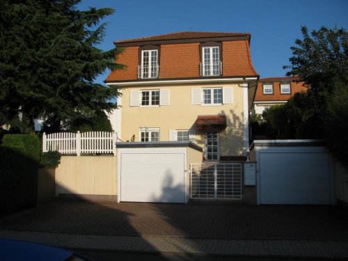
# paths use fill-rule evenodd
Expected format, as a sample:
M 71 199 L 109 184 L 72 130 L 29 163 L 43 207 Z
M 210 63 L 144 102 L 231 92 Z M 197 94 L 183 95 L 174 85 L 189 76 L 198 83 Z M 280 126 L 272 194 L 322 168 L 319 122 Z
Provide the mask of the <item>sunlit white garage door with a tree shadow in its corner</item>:
M 122 153 L 120 201 L 184 203 L 184 153 Z

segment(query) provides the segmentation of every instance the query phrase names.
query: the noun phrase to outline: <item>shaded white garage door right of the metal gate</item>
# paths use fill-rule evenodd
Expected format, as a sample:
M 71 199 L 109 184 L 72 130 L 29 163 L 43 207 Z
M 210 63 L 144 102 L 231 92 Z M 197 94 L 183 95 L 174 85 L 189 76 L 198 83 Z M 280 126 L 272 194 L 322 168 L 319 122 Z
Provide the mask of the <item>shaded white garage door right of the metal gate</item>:
M 329 154 L 260 152 L 260 204 L 331 204 Z

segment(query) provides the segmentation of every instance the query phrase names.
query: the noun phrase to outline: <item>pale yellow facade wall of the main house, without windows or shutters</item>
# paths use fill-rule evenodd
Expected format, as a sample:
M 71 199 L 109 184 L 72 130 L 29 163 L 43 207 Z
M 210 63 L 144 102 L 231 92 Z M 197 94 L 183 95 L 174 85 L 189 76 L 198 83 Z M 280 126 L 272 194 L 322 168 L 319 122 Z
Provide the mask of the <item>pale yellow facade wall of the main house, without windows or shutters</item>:
M 192 88 L 232 88 L 233 103 L 222 105 L 193 105 L 191 104 Z M 132 90 L 161 90 L 170 91 L 168 106 L 130 106 Z M 226 129 L 219 132 L 220 155 L 244 155 L 244 90 L 238 84 L 184 84 L 168 86 L 137 86 L 122 90 L 122 121 L 119 138 L 130 141 L 140 141 L 140 128 L 159 128 L 159 141 L 170 141 L 170 130 L 195 129 L 198 116 L 225 115 Z M 206 132 L 196 131 L 195 143 L 205 149 Z

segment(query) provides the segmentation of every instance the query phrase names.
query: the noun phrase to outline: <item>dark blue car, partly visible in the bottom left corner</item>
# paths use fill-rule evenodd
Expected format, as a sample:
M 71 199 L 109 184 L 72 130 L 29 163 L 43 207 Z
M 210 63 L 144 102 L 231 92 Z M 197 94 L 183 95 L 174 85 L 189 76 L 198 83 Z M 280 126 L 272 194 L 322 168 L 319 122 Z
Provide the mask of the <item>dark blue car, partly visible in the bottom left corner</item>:
M 13 239 L 0 239 L 0 260 L 93 261 L 63 248 Z

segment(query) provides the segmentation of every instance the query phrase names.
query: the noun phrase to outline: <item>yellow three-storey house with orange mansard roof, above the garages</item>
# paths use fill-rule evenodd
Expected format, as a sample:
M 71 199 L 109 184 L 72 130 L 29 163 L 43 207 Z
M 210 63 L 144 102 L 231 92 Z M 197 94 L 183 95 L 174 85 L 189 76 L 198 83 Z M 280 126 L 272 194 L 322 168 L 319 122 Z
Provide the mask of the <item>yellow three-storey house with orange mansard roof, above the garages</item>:
M 205 160 L 245 159 L 258 73 L 248 33 L 180 32 L 114 42 L 122 48 L 106 84 L 122 86 L 122 141 L 193 141 Z

